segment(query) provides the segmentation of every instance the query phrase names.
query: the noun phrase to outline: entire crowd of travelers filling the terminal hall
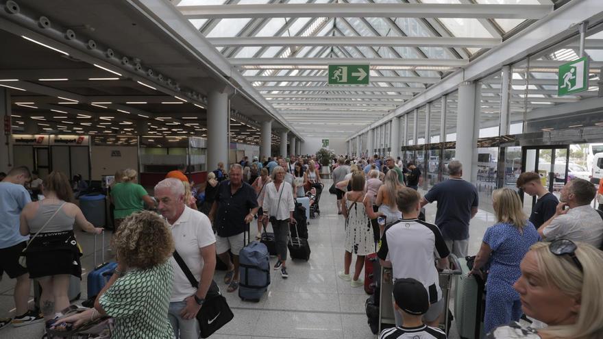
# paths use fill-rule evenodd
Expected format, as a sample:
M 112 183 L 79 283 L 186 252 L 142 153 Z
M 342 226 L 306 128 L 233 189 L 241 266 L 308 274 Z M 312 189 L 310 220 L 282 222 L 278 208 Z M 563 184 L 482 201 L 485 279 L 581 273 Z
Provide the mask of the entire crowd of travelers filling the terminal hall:
M 79 327 L 110 316 L 116 321 L 112 338 L 199 338 L 196 317 L 204 303 L 221 294 L 220 284 L 227 293 L 239 289 L 239 253 L 254 221 L 256 240 L 271 226 L 273 269 L 289 277 L 295 202 L 316 199 L 321 168 L 327 166 L 319 160 L 324 161 L 315 155 L 261 162 L 245 157 L 227 168 L 220 162 L 202 183 L 179 166 L 152 190 L 138 184 L 135 170 L 118 171 L 109 194 L 116 268 L 93 307 L 66 318 L 70 279 L 82 277 L 74 227 L 90 234 L 103 229 L 86 220 L 64 173 L 40 177 L 23 166 L 12 168 L 0 181 L 0 274 L 16 281 L 16 315 L 0 318 L 0 329 L 41 321 L 49 329 L 65 323 Z M 446 306 L 439 270 L 450 267 L 451 254 L 469 255 L 470 224 L 479 214 L 480 194 L 463 179 L 463 164 L 450 161 L 447 179 L 424 194 L 419 192 L 421 164 L 413 161 L 340 155 L 328 166 L 329 192 L 345 224 L 339 278 L 354 288 L 363 286 L 367 255 L 391 268 L 396 326 L 384 329 L 380 338 L 446 338 L 437 327 Z M 83 188 L 80 181 L 76 187 Z M 603 276 L 598 273 L 603 214 L 591 205 L 598 195 L 595 185 L 572 179 L 556 197 L 538 173 L 526 172 L 517 188 L 519 193 L 493 191 L 495 222 L 473 253 L 469 272 L 486 281 L 487 338 L 603 338 Z M 43 199 L 32 201 L 32 192 Z M 523 192 L 537 197 L 530 216 L 519 196 Z M 430 203 L 436 203 L 433 222 L 424 213 Z M 226 268 L 219 284 L 214 281 L 218 262 Z M 197 284 L 191 284 L 191 275 Z M 32 280 L 42 286 L 40 312 L 29 309 Z

